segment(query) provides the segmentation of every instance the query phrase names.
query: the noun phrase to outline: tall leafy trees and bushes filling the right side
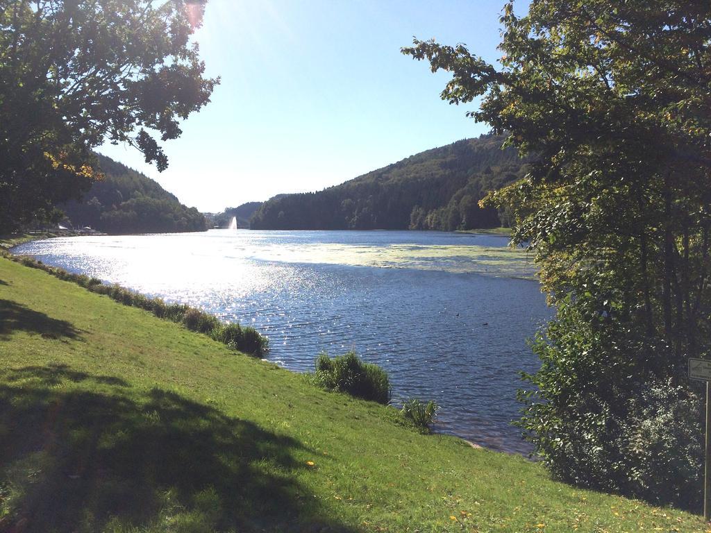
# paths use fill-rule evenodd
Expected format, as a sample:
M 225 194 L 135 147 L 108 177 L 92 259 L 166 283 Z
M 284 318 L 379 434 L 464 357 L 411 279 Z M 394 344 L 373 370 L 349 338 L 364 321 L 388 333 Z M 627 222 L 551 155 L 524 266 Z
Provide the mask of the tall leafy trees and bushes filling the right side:
M 538 158 L 492 193 L 557 308 L 520 426 L 560 478 L 698 507 L 711 357 L 711 4 L 533 0 L 503 8 L 499 65 L 466 45 L 403 52 L 442 98 Z

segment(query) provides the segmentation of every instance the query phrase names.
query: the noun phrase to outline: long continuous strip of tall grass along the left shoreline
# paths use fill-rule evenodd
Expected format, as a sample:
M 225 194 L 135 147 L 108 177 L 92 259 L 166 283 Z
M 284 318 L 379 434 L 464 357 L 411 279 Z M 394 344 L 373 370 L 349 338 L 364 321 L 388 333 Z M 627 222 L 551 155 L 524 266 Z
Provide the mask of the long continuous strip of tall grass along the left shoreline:
M 184 303 L 166 303 L 162 298 L 149 298 L 117 284 L 106 285 L 98 278 L 86 276 L 85 274 L 73 274 L 56 266 L 44 264 L 31 257 L 14 256 L 8 252 L 2 252 L 2 254 L 14 262 L 43 270 L 56 278 L 63 281 L 71 281 L 93 293 L 109 296 L 109 298 L 124 304 L 124 306 L 141 308 L 144 311 L 153 313 L 158 318 L 182 324 L 188 330 L 208 335 L 208 337 L 227 345 L 232 350 L 245 352 L 255 357 L 262 357 L 269 351 L 269 340 L 250 326 L 242 326 L 238 323 L 224 323 L 214 315 L 205 313 L 201 309 L 187 306 Z

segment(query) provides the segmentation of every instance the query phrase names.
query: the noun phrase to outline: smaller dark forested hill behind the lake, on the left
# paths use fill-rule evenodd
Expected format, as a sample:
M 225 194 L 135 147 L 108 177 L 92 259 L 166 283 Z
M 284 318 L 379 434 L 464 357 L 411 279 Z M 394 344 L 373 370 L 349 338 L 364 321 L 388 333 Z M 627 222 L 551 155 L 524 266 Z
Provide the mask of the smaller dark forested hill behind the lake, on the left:
M 105 177 L 84 201 L 61 206 L 73 226 L 107 233 L 205 230 L 205 217 L 196 208 L 187 208 L 144 174 L 102 155 L 99 164 Z

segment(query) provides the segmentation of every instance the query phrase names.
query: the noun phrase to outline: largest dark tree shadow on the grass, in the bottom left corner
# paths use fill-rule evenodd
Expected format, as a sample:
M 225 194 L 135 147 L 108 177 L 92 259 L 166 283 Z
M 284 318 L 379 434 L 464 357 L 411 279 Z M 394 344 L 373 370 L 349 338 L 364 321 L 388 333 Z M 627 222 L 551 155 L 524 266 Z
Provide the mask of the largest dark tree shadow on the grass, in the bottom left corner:
M 0 382 L 0 530 L 353 531 L 294 479 L 288 436 L 68 367 Z

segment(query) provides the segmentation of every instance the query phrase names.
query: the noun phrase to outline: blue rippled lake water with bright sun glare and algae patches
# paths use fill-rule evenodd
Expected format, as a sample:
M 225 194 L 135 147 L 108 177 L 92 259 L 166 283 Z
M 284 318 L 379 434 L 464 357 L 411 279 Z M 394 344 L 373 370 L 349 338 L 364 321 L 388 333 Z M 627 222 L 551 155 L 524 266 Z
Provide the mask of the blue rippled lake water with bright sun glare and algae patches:
M 438 431 L 530 450 L 510 421 L 525 339 L 550 317 L 530 257 L 505 237 L 442 232 L 255 232 L 68 237 L 14 252 L 180 301 L 269 337 L 269 360 L 313 370 L 354 348 L 395 400 L 436 399 Z

